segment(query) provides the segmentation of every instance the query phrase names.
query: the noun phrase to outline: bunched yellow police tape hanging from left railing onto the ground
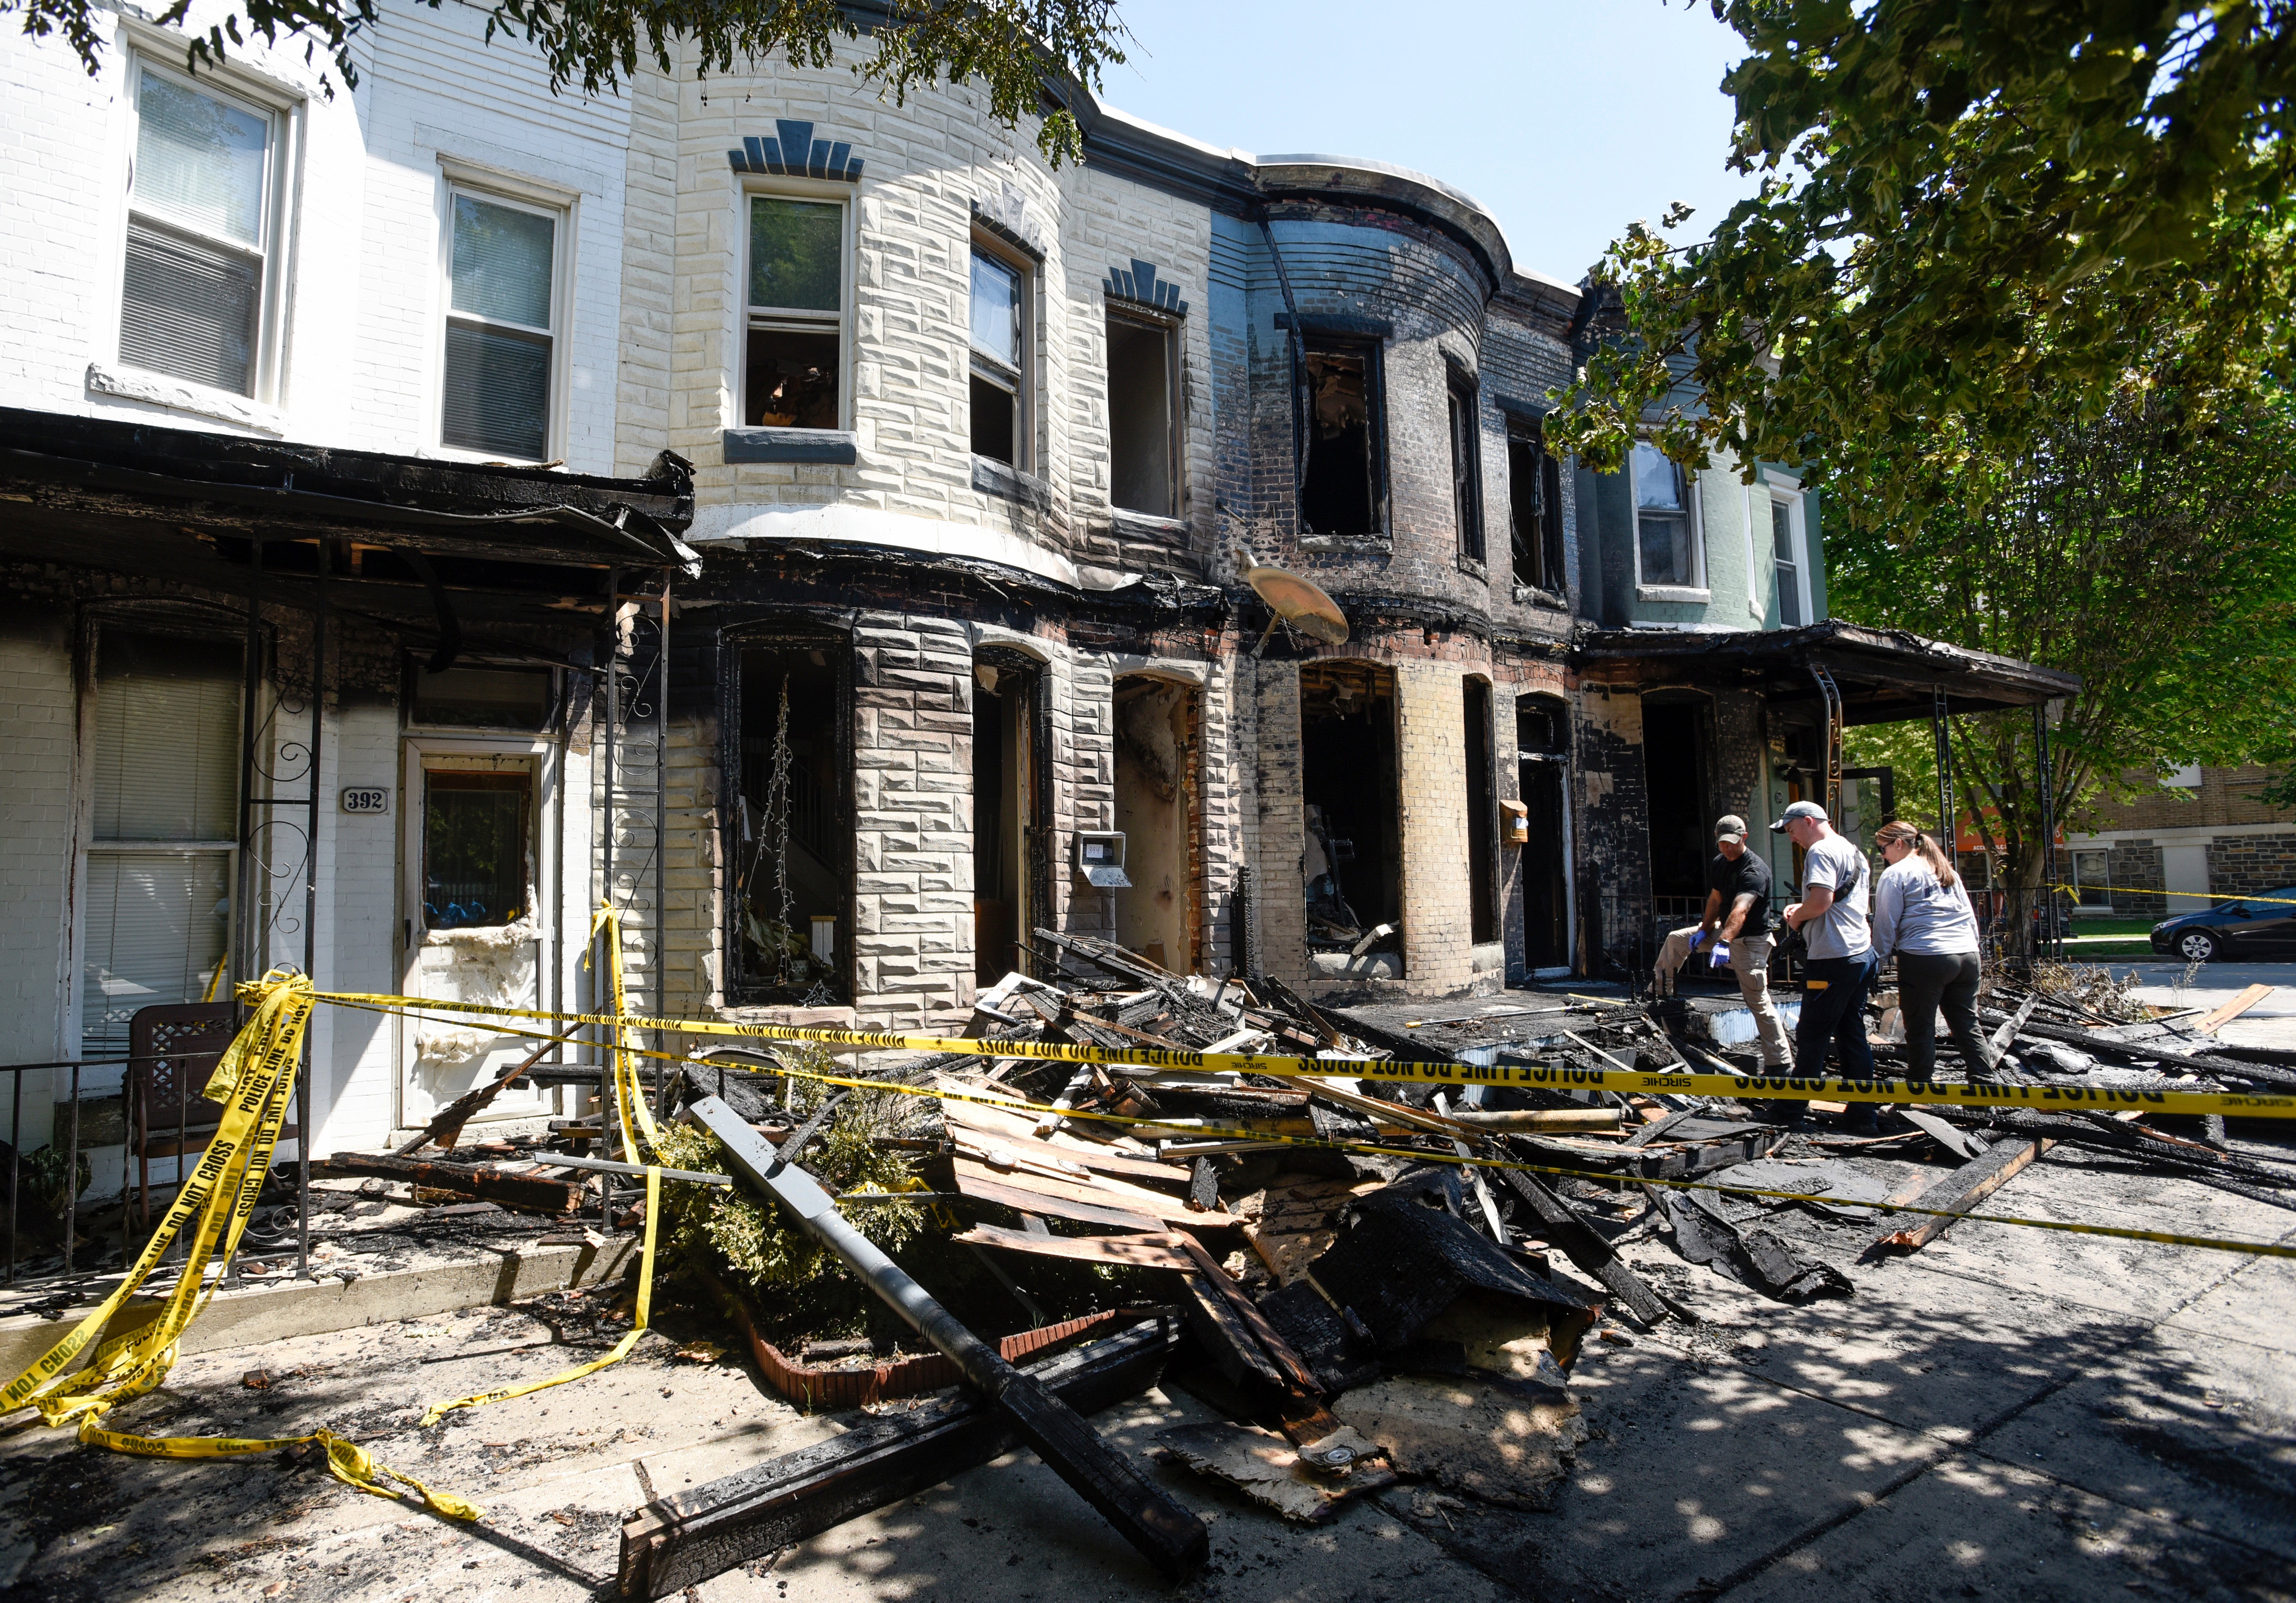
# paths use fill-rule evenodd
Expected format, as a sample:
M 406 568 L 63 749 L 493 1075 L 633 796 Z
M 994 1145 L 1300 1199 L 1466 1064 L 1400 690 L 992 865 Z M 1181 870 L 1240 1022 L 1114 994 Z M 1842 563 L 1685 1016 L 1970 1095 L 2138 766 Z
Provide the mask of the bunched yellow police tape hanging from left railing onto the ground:
M 287 1114 L 287 1098 L 294 1091 L 294 1066 L 303 1045 L 303 1027 L 310 1022 L 317 997 L 303 976 L 271 974 L 262 985 L 262 1001 L 246 1029 L 225 1047 L 216 1066 L 207 1095 L 223 1102 L 223 1123 L 216 1137 L 200 1153 L 191 1178 L 179 1187 L 158 1231 L 145 1242 L 135 1265 L 119 1286 L 96 1309 L 92 1309 L 71 1332 L 39 1357 L 30 1369 L 0 1389 L 0 1415 L 18 1408 L 37 1408 L 51 1426 L 78 1422 L 78 1435 L 92 1447 L 142 1454 L 152 1458 L 234 1458 L 241 1454 L 276 1451 L 315 1442 L 326 1447 L 326 1468 L 338 1481 L 356 1486 L 379 1497 L 395 1497 L 383 1477 L 411 1486 L 422 1502 L 457 1520 L 475 1520 L 480 1511 L 452 1493 L 432 1490 L 422 1481 L 400 1474 L 333 1431 L 289 1438 L 230 1438 L 230 1435 L 131 1435 L 106 1431 L 106 1412 L 142 1396 L 156 1387 L 174 1366 L 177 1343 L 193 1318 L 216 1295 L 223 1275 L 230 1270 L 239 1238 L 255 1213 L 255 1197 L 262 1192 L 271 1169 L 271 1153 L 278 1144 L 280 1121 Z M 138 1286 L 158 1268 L 177 1233 L 191 1224 L 188 1249 L 174 1291 L 142 1330 L 113 1337 L 96 1346 L 94 1357 L 78 1373 L 64 1373 L 71 1360 L 94 1341 Z M 209 1263 L 216 1277 L 207 1277 Z

